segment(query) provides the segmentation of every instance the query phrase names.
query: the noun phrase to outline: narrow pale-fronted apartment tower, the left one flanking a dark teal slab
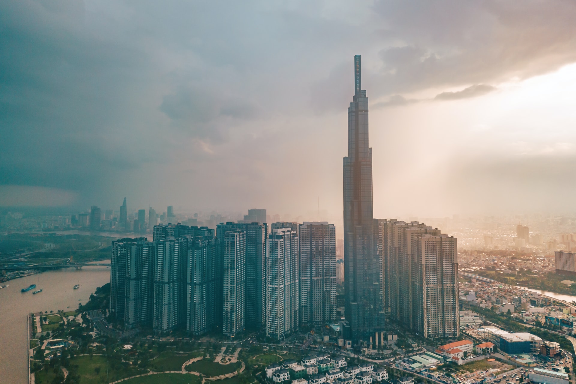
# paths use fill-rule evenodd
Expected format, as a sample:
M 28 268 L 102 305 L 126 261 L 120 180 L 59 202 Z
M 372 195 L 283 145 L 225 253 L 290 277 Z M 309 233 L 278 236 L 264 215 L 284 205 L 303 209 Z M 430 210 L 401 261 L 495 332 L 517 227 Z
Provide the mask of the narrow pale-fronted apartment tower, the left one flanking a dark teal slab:
M 226 232 L 222 248 L 222 333 L 234 337 L 244 330 L 246 231 Z

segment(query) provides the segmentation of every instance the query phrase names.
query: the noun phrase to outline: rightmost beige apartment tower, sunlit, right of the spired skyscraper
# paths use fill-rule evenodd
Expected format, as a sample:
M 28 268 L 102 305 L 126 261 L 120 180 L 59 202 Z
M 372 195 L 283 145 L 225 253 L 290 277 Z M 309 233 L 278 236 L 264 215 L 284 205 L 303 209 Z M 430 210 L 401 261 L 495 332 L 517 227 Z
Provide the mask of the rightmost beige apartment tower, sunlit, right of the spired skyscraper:
M 413 329 L 423 337 L 458 337 L 458 250 L 456 238 L 423 235 L 416 241 Z

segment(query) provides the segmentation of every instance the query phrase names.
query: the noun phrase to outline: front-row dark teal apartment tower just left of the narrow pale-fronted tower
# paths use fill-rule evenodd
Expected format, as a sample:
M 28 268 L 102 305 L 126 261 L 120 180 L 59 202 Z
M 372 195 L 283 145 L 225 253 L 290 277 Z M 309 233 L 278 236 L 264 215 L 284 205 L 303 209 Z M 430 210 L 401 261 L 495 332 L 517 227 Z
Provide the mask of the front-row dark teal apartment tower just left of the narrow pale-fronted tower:
M 217 239 L 203 236 L 188 243 L 186 329 L 203 334 L 215 326 Z

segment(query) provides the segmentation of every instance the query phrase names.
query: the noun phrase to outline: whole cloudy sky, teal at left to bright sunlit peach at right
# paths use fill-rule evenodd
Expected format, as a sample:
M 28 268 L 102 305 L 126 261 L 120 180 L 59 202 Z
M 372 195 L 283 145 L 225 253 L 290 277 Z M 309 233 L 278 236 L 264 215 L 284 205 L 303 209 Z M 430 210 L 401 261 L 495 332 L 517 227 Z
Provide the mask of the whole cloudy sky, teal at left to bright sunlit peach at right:
M 0 2 L 0 206 L 576 211 L 573 1 Z

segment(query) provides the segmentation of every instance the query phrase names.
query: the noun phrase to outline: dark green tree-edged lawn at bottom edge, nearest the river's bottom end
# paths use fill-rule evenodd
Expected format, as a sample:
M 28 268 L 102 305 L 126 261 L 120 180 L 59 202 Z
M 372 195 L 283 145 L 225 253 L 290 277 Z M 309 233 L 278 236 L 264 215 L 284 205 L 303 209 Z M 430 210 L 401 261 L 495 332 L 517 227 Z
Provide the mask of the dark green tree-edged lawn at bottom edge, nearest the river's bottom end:
M 125 377 L 131 377 L 139 374 L 146 373 L 146 371 L 138 370 L 135 367 L 130 368 L 112 368 L 112 364 L 107 364 L 104 356 L 77 356 L 70 360 L 71 364 L 78 365 L 78 375 L 82 377 L 82 384 L 100 384 L 109 383 Z M 97 374 L 94 370 L 100 367 L 100 373 Z M 108 375 L 106 370 L 108 368 Z

